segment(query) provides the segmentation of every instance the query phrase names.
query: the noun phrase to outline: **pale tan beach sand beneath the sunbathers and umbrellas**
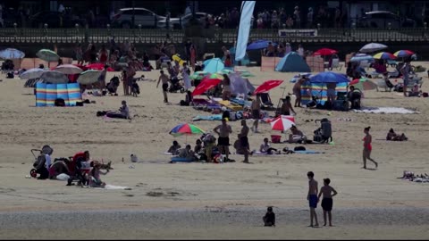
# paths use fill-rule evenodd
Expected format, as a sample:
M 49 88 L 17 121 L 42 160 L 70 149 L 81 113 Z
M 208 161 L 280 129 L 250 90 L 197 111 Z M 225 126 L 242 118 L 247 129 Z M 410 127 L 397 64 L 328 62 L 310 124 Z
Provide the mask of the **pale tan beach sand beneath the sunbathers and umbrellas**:
M 428 62 L 418 64 L 429 67 Z M 256 75 L 250 78 L 254 85 L 259 85 L 266 79 L 284 79 L 282 87 L 286 87 L 285 93 L 291 92 L 292 84 L 289 80 L 293 73 L 261 72 L 257 67 L 248 70 Z M 118 72 L 109 72 L 107 79 L 114 74 L 119 75 Z M 158 77 L 158 71 L 139 72 L 138 76 L 140 74 L 145 74 L 150 79 Z M 420 75 L 429 82 L 427 74 Z M 156 82 L 153 81 L 142 81 L 139 82 L 139 97 L 122 96 L 120 87 L 120 96 L 90 96 L 89 99 L 95 100 L 97 104 L 73 108 L 38 108 L 34 106 L 35 96 L 31 95 L 33 89 L 22 87 L 23 83 L 24 80 L 21 79 L 4 77 L 0 82 L 2 220 L 9 216 L 15 221 L 24 219 L 18 219 L 15 212 L 22 212 L 20 215 L 31 220 L 34 219 L 31 212 L 48 216 L 51 213 L 54 217 L 65 215 L 59 212 L 64 210 L 98 210 L 105 213 L 105 216 L 102 215 L 91 224 L 90 227 L 100 228 L 96 231 L 80 226 L 77 229 L 81 232 L 73 232 L 71 229 L 47 231 L 46 227 L 55 224 L 55 219 L 49 219 L 43 225 L 32 226 L 31 229 L 10 224 L 7 226 L 9 229 L 4 228 L 0 232 L 0 237 L 94 238 L 99 235 L 99 238 L 429 238 L 429 216 L 425 208 L 428 204 L 429 186 L 397 179 L 402 176 L 403 170 L 429 172 L 426 151 L 426 134 L 429 131 L 428 98 L 405 98 L 397 92 L 375 90 L 365 93 L 363 105 L 412 108 L 420 114 L 332 111 L 328 115 L 328 111 L 297 108 L 297 124 L 310 137 L 313 137 L 313 130 L 319 124 L 305 120 L 324 117 L 332 120 L 335 145 L 307 145 L 307 149 L 323 151 L 325 154 L 252 156 L 250 161 L 254 164 L 241 163 L 240 155 L 231 155 L 237 161 L 234 163 L 169 164 L 170 157 L 163 153 L 172 140 L 176 139 L 184 145 L 186 139 L 173 138 L 168 134 L 169 130 L 181 122 L 191 122 L 198 114 L 207 114 L 191 107 L 179 106 L 180 100 L 184 99 L 183 94 L 169 94 L 172 104 L 164 104 L 161 87 L 156 88 Z M 423 85 L 425 92 L 429 90 L 428 84 Z M 282 97 L 282 87 L 270 92 L 274 104 Z M 96 116 L 97 111 L 116 110 L 122 100 L 127 100 L 131 112 L 138 115 L 133 120 L 104 120 Z M 339 120 L 341 118 L 351 121 Z M 248 123 L 251 125 L 250 120 Z M 210 131 L 219 122 L 198 121 L 195 124 Z M 233 142 L 240 131 L 240 122 L 230 124 Z M 379 162 L 378 170 L 361 169 L 362 137 L 366 126 L 372 127 L 372 156 Z M 408 142 L 378 140 L 383 139 L 390 128 L 400 133 L 405 132 Z M 278 134 L 270 129 L 269 124 L 261 123 L 259 129 L 261 133 L 251 133 L 249 136 L 252 149 L 260 145 L 263 137 Z M 282 139 L 284 137 L 283 135 Z M 188 143 L 193 145 L 196 138 L 188 137 Z M 113 161 L 114 170 L 102 176 L 102 179 L 108 184 L 132 187 L 132 190 L 66 187 L 63 181 L 25 179 L 34 161 L 30 149 L 40 148 L 45 144 L 54 148 L 53 157 L 71 156 L 89 150 L 94 159 Z M 273 146 L 282 148 L 295 145 Z M 131 163 L 130 154 L 137 154 L 142 162 Z M 125 162 L 122 162 L 122 158 Z M 368 166 L 372 167 L 372 163 Z M 333 210 L 333 222 L 338 224 L 337 227 L 307 229 L 308 170 L 315 172 L 319 185 L 322 185 L 322 179 L 330 178 L 332 187 L 339 191 L 339 195 L 334 197 Z M 276 229 L 259 228 L 268 205 L 273 205 L 274 212 L 283 217 L 279 219 Z M 142 229 L 137 227 L 139 230 L 136 230 L 136 227 L 116 226 L 120 220 L 132 226 L 131 221 L 126 221 L 126 215 L 115 214 L 121 210 L 136 212 L 138 216 L 141 212 L 141 219 L 145 219 L 146 212 L 176 218 L 149 219 L 147 221 L 155 225 L 139 224 L 136 226 Z M 181 212 L 173 212 L 174 210 Z M 188 217 L 190 211 L 187 210 L 197 213 L 195 220 Z M 204 213 L 211 213 L 213 210 L 226 213 L 223 218 L 234 221 L 225 223 L 214 220 L 201 224 L 201 220 L 211 220 Z M 239 211 L 225 212 L 229 210 Z M 320 207 L 317 212 L 320 220 Z M 391 218 L 398 216 L 407 218 L 403 222 L 398 218 Z M 237 217 L 240 219 L 236 219 Z M 360 221 L 350 217 L 356 217 Z M 180 220 L 186 228 L 177 225 L 176 220 Z M 104 224 L 111 228 L 101 229 Z M 37 231 L 38 229 L 40 230 Z M 38 232 L 36 236 L 35 231 Z M 88 234 L 92 231 L 93 234 Z

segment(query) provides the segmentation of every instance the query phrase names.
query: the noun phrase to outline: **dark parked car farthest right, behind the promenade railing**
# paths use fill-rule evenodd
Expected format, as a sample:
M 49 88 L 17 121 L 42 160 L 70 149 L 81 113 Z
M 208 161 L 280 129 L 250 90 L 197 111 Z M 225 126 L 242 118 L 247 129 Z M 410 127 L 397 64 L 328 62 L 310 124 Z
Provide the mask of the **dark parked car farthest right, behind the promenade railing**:
M 389 23 L 391 23 L 389 25 Z M 416 21 L 401 18 L 399 15 L 389 11 L 365 12 L 365 15 L 357 21 L 360 28 L 399 29 L 403 27 L 416 27 Z

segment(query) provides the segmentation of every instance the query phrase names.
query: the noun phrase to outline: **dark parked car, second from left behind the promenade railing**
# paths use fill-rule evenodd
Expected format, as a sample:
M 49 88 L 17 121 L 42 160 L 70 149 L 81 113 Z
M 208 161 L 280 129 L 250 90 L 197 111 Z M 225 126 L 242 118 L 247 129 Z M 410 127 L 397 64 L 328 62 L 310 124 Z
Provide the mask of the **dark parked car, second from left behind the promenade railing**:
M 45 23 L 48 28 L 73 28 L 76 23 L 80 27 L 85 25 L 85 20 L 70 14 L 64 14 L 62 17 L 60 12 L 53 11 L 38 12 L 29 17 L 29 22 L 33 28 L 43 28 Z

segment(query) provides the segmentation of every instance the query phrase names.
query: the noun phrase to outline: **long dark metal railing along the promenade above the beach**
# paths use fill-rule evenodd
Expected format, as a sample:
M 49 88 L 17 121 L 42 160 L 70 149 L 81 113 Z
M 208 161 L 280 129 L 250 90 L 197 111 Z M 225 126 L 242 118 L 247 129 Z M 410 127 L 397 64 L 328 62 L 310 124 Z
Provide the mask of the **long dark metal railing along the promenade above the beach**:
M 252 29 L 249 41 L 267 39 L 274 42 L 422 42 L 429 40 L 429 29 L 316 29 L 315 37 L 280 37 L 277 29 Z M 237 29 L 204 29 L 208 44 L 233 44 L 237 39 Z M 183 29 L 0 29 L 0 43 L 109 43 L 114 37 L 116 43 L 126 38 L 131 43 L 155 44 L 164 41 L 182 43 Z

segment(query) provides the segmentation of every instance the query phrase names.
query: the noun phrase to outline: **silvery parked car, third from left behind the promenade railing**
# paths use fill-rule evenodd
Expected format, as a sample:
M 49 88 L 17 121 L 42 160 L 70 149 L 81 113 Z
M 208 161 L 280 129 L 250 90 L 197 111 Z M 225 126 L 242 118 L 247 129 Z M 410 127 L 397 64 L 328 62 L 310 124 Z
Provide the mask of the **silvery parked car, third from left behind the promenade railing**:
M 134 15 L 134 22 L 132 16 Z M 122 8 L 114 14 L 112 26 L 114 28 L 130 29 L 141 25 L 142 28 L 156 28 L 158 21 L 165 20 L 165 16 L 161 16 L 146 8 Z

